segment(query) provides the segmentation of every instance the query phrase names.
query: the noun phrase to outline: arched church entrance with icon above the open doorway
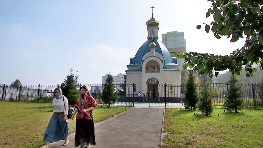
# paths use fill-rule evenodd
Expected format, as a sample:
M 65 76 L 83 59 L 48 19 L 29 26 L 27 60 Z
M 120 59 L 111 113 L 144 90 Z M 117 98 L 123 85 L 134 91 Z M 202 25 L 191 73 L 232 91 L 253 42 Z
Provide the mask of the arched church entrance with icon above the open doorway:
M 147 84 L 147 98 L 146 102 L 156 102 L 158 101 L 158 84 L 159 80 L 156 78 L 149 78 L 146 81 Z

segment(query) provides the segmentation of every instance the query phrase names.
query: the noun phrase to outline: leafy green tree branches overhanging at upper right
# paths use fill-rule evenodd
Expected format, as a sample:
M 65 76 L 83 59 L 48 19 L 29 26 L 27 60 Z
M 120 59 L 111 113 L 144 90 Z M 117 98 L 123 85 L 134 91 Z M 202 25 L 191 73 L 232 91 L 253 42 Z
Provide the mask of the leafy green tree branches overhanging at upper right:
M 245 66 L 246 76 L 253 76 L 256 72 L 252 64 L 260 65 L 263 70 L 263 1 L 251 0 L 208 0 L 212 3 L 206 13 L 206 18 L 213 14 L 214 21 L 205 24 L 205 31 L 211 30 L 217 39 L 222 36 L 231 38 L 236 42 L 246 38 L 244 47 L 236 49 L 230 55 L 214 55 L 196 52 L 174 53 L 179 58 L 184 58 L 183 67 L 198 70 L 200 74 L 213 76 L 214 70 L 229 69 L 232 74 L 240 75 L 242 66 Z M 201 25 L 196 26 L 201 29 Z M 215 73 L 215 76 L 218 72 Z

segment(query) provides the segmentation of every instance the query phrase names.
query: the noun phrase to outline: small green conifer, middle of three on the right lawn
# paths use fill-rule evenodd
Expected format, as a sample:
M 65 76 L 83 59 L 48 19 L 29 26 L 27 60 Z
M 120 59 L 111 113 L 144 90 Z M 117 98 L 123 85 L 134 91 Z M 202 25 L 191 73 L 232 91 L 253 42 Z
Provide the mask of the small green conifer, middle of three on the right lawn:
M 205 114 L 206 116 L 212 114 L 213 112 L 212 99 L 210 98 L 209 94 L 210 87 L 207 79 L 210 78 L 205 78 L 204 76 L 203 83 L 201 85 L 201 96 L 198 102 L 198 109 L 201 111 L 201 113 Z

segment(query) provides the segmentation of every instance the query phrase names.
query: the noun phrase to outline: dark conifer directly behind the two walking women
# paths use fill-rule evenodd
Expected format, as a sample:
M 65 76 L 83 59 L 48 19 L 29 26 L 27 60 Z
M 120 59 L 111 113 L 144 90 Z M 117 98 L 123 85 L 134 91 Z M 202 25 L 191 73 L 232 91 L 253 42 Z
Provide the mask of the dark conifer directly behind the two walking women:
M 80 91 L 77 90 L 78 84 L 77 84 L 77 79 L 78 79 L 78 71 L 77 75 L 73 74 L 72 68 L 70 69 L 70 73 L 67 75 L 66 79 L 64 82 L 61 84 L 60 88 L 63 92 L 63 95 L 67 97 L 68 99 L 68 104 L 69 105 L 74 105 L 79 98 Z

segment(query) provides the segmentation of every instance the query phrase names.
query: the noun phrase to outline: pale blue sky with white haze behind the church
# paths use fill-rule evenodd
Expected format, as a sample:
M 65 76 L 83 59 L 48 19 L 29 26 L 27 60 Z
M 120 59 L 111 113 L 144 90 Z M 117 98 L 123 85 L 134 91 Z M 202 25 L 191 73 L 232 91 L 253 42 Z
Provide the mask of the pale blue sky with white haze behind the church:
M 0 1 L 0 84 L 61 84 L 73 68 L 82 84 L 125 74 L 130 57 L 147 39 L 146 21 L 160 21 L 161 34 L 185 33 L 186 51 L 229 54 L 230 43 L 196 25 L 209 22 L 206 0 Z

